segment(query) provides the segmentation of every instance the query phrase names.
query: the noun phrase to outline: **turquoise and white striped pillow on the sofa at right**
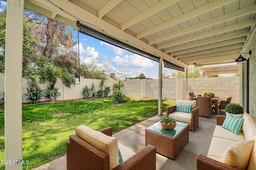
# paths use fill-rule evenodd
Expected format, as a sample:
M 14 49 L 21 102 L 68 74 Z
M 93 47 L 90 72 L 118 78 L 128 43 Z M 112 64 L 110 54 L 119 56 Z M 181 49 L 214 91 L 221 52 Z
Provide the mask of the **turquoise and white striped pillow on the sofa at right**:
M 241 126 L 243 125 L 244 119 L 234 117 L 230 113 L 226 112 L 226 119 L 224 120 L 222 127 L 238 135 Z

